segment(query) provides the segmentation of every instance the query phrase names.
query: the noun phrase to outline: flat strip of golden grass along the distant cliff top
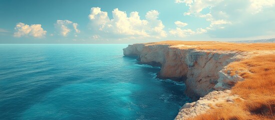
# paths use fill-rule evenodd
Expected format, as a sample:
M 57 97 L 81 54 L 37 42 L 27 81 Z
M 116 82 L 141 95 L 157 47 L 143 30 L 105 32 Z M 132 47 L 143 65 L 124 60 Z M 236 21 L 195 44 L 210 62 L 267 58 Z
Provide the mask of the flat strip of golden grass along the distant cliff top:
M 153 44 L 181 45 L 179 48 L 196 48 L 205 50 L 229 50 L 229 51 L 253 51 L 253 50 L 275 50 L 275 43 L 231 43 L 218 41 L 160 41 L 150 42 Z M 185 46 L 184 46 L 185 45 Z

